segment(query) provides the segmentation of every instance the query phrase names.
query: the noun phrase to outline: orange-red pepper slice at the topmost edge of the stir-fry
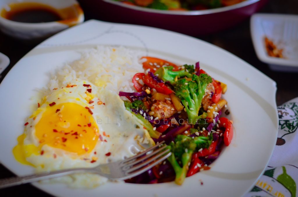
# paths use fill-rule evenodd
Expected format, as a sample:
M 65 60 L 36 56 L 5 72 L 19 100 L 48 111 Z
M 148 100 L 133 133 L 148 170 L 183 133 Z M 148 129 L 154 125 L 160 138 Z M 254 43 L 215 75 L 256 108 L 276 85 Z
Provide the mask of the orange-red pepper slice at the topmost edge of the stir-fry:
M 142 57 L 141 59 L 146 58 L 147 61 L 143 62 L 143 68 L 145 70 L 150 69 L 150 72 L 155 72 L 158 68 L 165 65 L 167 63 L 168 66 L 173 66 L 173 71 L 179 71 L 179 66 L 173 64 L 172 62 L 168 62 L 166 60 L 162 60 L 156 57 Z

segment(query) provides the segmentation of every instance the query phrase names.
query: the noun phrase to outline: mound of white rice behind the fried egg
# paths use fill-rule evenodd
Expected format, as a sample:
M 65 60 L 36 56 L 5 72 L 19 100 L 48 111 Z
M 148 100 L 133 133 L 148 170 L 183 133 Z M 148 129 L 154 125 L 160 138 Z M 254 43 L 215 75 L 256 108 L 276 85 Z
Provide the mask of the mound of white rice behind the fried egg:
M 117 94 L 119 91 L 134 92 L 132 78 L 136 73 L 144 72 L 141 55 L 139 51 L 122 46 L 97 46 L 83 52 L 79 60 L 58 69 L 48 88 L 51 91 L 79 78 Z M 44 92 L 45 95 L 49 93 Z

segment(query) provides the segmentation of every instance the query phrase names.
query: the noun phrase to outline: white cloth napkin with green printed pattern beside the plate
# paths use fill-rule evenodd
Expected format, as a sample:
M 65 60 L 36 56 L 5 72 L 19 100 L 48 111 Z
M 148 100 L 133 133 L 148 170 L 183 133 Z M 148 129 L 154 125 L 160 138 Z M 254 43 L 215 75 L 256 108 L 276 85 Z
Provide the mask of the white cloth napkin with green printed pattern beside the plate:
M 272 157 L 264 174 L 245 197 L 298 196 L 298 98 L 277 110 L 279 130 Z

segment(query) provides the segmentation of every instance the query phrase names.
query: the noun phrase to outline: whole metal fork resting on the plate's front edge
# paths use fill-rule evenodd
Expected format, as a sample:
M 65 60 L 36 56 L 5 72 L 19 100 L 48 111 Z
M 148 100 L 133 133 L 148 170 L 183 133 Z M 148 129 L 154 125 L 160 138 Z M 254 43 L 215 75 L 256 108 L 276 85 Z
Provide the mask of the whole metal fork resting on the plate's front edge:
M 25 183 L 42 181 L 45 179 L 56 178 L 73 173 L 96 173 L 101 176 L 107 177 L 110 180 L 129 179 L 149 170 L 154 165 L 162 162 L 171 155 L 171 152 L 167 148 L 167 146 L 162 146 L 163 143 L 164 141 L 125 160 L 98 165 L 94 168 L 73 168 L 54 172 L 33 174 L 29 176 L 0 179 L 0 189 Z

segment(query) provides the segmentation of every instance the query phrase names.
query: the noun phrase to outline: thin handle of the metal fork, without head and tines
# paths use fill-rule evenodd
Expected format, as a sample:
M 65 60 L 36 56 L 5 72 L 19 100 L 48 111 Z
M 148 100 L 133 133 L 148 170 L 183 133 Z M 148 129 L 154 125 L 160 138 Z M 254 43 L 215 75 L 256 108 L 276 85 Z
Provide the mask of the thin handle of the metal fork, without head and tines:
M 80 173 L 80 172 L 86 172 L 86 168 L 67 169 L 67 170 L 60 170 L 55 172 L 38 173 L 38 174 L 32 174 L 28 176 L 17 176 L 17 177 L 11 177 L 6 179 L 0 179 L 0 189 L 15 186 L 15 185 L 21 185 L 25 183 L 32 183 L 36 181 L 56 178 L 56 177 L 65 176 L 73 173 Z

